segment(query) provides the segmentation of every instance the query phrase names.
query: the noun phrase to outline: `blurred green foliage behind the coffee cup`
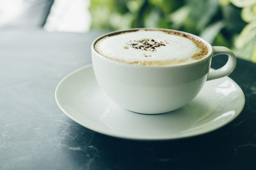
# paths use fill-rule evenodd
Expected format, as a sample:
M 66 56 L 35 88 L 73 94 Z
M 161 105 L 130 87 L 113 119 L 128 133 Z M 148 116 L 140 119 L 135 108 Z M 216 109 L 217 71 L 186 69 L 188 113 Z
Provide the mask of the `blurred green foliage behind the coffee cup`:
M 178 29 L 256 62 L 256 0 L 91 0 L 91 29 Z

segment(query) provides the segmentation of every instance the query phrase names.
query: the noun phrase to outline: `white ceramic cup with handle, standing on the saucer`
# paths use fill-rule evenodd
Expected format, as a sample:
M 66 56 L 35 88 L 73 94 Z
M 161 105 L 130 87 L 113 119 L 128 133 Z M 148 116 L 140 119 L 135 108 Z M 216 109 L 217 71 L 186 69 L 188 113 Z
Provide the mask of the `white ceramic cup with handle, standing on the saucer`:
M 109 34 L 118 32 L 125 31 Z M 93 71 L 99 86 L 116 104 L 137 113 L 165 113 L 188 104 L 205 81 L 227 76 L 236 67 L 236 56 L 230 49 L 189 35 L 204 42 L 209 53 L 196 62 L 177 66 L 141 66 L 108 59 L 95 50 L 95 43 L 104 37 L 100 36 L 92 43 Z M 220 69 L 210 70 L 212 56 L 218 54 L 228 55 L 228 61 Z

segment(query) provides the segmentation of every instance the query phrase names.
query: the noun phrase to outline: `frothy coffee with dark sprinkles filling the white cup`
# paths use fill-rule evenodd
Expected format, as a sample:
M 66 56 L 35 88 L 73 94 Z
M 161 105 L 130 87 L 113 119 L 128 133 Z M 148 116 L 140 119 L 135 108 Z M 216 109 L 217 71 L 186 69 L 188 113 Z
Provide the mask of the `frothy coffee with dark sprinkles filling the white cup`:
M 170 66 L 203 59 L 209 49 L 200 39 L 165 29 L 114 32 L 99 39 L 95 50 L 108 59 L 145 66 Z

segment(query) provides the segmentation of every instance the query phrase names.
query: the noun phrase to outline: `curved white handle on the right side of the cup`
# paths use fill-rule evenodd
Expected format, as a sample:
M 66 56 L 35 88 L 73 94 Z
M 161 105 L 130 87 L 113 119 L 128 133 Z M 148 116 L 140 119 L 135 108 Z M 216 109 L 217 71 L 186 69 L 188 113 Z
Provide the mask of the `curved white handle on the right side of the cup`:
M 207 81 L 221 78 L 223 76 L 228 76 L 230 73 L 232 73 L 232 71 L 234 71 L 236 67 L 236 56 L 229 48 L 224 46 L 212 46 L 212 49 L 213 57 L 218 54 L 227 54 L 228 61 L 224 66 L 220 67 L 219 69 L 211 69 L 207 76 Z

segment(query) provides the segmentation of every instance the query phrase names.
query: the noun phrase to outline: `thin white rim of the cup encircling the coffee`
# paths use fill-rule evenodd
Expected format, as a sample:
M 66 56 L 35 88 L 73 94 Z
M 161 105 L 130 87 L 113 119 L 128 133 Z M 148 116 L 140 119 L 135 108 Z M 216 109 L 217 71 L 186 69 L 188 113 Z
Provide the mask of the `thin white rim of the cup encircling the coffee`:
M 109 36 L 109 35 L 115 35 L 115 34 L 120 34 L 122 32 L 127 32 L 127 31 L 139 31 L 139 30 L 143 30 L 143 29 L 150 29 L 150 30 L 163 30 L 163 31 L 174 31 L 174 32 L 180 32 L 183 34 L 188 34 L 189 36 L 193 36 L 196 39 L 202 41 L 208 48 L 209 52 L 207 53 L 207 55 L 205 57 L 203 57 L 200 60 L 195 60 L 193 62 L 189 62 L 189 63 L 183 63 L 183 64 L 175 64 L 175 65 L 164 65 L 164 66 L 150 66 L 150 65 L 140 65 L 140 64 L 129 64 L 126 62 L 120 62 L 118 60 L 113 60 L 113 59 L 109 59 L 108 57 L 104 57 L 102 54 L 100 54 L 99 52 L 97 52 L 97 50 L 95 49 L 95 44 L 97 43 L 97 41 L 99 41 L 100 39 L 104 38 L 105 36 Z M 210 45 L 210 43 L 208 43 L 207 41 L 205 41 L 204 39 L 200 38 L 199 36 L 196 36 L 195 34 L 191 34 L 189 32 L 184 32 L 184 31 L 179 31 L 179 30 L 175 30 L 175 29 L 161 29 L 161 28 L 149 28 L 149 27 L 145 27 L 145 28 L 133 28 L 133 29 L 125 29 L 125 30 L 120 30 L 120 31 L 113 31 L 113 32 L 108 32 L 106 34 L 103 34 L 102 36 L 99 36 L 98 38 L 96 38 L 93 43 L 92 43 L 92 50 L 93 52 L 97 53 L 97 55 L 100 56 L 100 58 L 104 59 L 104 60 L 108 60 L 109 62 L 113 62 L 115 64 L 118 65 L 122 65 L 122 66 L 133 66 L 133 67 L 155 67 L 155 68 L 159 68 L 159 67 L 184 67 L 184 66 L 193 66 L 196 64 L 200 64 L 202 62 L 204 62 L 205 60 L 208 60 L 209 58 L 212 57 L 213 54 L 213 49 L 212 49 L 212 45 Z

